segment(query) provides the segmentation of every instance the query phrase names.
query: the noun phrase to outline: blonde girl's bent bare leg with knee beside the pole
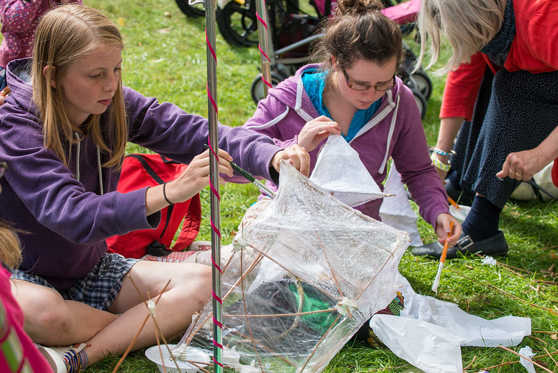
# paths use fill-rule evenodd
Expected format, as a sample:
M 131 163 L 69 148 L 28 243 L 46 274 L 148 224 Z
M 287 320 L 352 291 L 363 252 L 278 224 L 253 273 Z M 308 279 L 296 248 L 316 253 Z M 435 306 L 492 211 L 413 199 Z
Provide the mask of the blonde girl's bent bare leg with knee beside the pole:
M 146 300 L 156 300 L 170 280 L 156 305 L 155 313 L 157 324 L 166 339 L 185 332 L 192 315 L 201 309 L 211 292 L 211 268 L 206 265 L 139 261 L 128 275 Z M 90 364 L 107 355 L 124 353 L 149 314 L 128 276 L 124 277 L 122 289 L 109 311 L 122 315 L 87 340 L 85 352 Z M 132 350 L 156 344 L 155 333 L 154 323 L 149 317 Z

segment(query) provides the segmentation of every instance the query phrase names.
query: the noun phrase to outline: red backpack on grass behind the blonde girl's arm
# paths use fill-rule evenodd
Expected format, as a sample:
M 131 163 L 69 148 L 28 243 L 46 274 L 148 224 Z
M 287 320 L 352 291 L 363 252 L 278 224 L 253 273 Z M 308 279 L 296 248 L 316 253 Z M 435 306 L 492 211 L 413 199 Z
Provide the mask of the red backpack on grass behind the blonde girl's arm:
M 159 154 L 130 154 L 124 158 L 117 191 L 126 193 L 175 180 L 186 167 Z M 161 210 L 161 224 L 157 228 L 108 238 L 108 251 L 126 258 L 141 258 L 145 254 L 164 256 L 170 251 L 182 251 L 196 239 L 201 219 L 200 195 L 196 194 L 185 202 Z M 177 241 L 170 247 L 182 221 Z

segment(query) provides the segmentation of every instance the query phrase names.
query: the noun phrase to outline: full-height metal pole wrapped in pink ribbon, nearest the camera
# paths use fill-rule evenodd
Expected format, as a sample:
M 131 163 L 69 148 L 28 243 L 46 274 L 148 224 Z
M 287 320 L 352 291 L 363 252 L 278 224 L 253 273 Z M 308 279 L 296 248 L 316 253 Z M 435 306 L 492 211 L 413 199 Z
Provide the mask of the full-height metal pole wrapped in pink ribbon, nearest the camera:
M 211 249 L 213 291 L 213 361 L 214 372 L 223 372 L 223 324 L 221 318 L 221 219 L 219 202 L 219 136 L 217 129 L 217 83 L 215 53 L 216 0 L 205 0 L 205 37 L 207 40 L 207 106 L 210 131 L 210 188 L 211 188 Z

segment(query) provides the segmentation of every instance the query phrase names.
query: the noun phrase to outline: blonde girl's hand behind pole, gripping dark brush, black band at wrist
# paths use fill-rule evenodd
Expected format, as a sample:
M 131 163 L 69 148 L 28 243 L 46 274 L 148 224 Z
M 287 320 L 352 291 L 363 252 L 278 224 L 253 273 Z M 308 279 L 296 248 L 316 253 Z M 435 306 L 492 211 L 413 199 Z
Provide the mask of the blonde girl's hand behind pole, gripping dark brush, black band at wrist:
M 184 202 L 196 196 L 200 190 L 210 184 L 210 158 L 213 154 L 207 149 L 202 154 L 193 157 L 188 167 L 182 174 L 166 185 L 166 196 L 172 203 Z M 233 177 L 233 167 L 230 161 L 233 158 L 223 149 L 219 149 L 219 174 L 223 173 Z M 225 180 L 219 176 L 219 184 L 224 185 Z

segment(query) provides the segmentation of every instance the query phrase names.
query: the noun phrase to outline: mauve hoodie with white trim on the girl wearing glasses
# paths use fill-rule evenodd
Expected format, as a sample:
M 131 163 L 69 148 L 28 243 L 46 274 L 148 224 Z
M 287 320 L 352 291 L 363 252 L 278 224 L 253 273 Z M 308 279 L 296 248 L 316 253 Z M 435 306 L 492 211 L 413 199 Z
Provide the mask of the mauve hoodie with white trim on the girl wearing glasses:
M 258 103 L 245 127 L 274 138 L 280 147 L 298 143 L 298 133 L 304 124 L 319 117 L 316 108 L 302 85 L 302 73 L 319 69 L 317 64 L 302 66 L 293 77 L 270 89 L 266 98 Z M 420 216 L 432 226 L 436 217 L 449 212 L 446 191 L 432 166 L 428 154 L 420 112 L 411 90 L 397 78 L 397 85 L 381 99 L 374 117 L 349 142 L 360 155 L 362 163 L 376 183 L 386 179 L 386 162 L 392 157 L 411 198 L 419 207 Z M 325 140 L 310 154 L 310 167 L 314 170 L 318 151 Z M 270 184 L 270 182 L 267 182 Z M 369 217 L 380 220 L 381 199 L 355 207 Z

